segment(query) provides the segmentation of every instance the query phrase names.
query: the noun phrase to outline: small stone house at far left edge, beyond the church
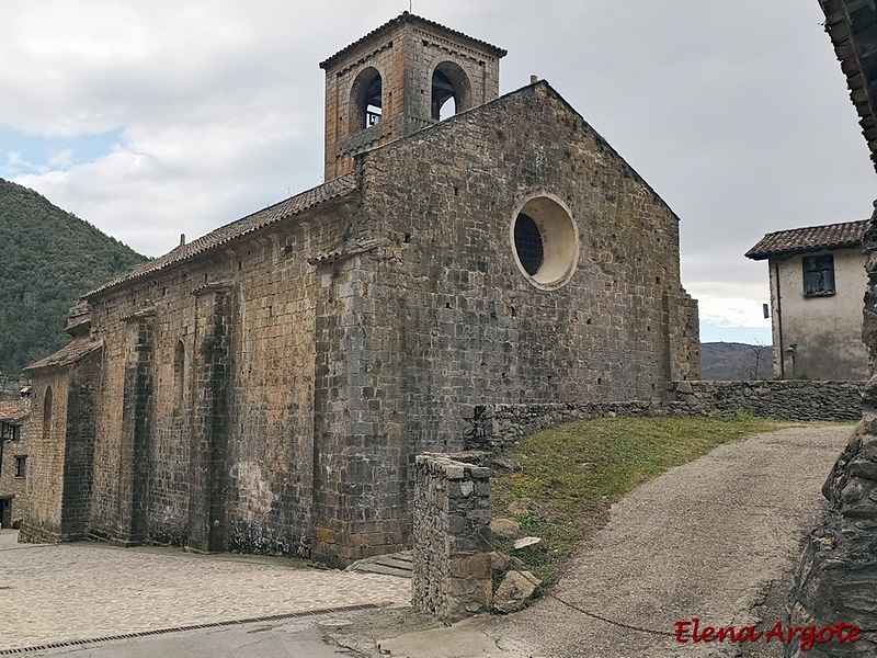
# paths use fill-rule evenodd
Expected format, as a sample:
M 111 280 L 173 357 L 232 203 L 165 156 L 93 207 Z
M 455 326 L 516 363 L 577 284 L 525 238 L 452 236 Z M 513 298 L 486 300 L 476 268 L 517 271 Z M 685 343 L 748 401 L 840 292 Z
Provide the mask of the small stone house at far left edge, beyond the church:
M 27 400 L 0 401 L 0 526 L 11 527 L 26 507 Z

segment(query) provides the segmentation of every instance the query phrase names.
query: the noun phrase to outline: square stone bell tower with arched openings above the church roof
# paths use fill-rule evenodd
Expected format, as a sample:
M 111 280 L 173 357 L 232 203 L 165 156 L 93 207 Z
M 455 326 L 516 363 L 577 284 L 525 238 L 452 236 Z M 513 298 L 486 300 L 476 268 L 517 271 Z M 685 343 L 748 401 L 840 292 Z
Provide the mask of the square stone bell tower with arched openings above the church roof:
M 326 180 L 352 171 L 358 152 L 496 99 L 504 55 L 408 12 L 332 55 L 320 64 Z

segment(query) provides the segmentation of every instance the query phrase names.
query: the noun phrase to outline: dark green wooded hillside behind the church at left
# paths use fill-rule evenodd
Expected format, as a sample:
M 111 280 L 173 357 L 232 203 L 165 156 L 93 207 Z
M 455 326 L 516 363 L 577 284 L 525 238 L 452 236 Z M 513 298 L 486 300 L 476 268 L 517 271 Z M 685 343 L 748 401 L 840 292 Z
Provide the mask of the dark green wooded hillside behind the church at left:
M 33 190 L 0 179 L 0 373 L 69 339 L 79 296 L 147 260 Z

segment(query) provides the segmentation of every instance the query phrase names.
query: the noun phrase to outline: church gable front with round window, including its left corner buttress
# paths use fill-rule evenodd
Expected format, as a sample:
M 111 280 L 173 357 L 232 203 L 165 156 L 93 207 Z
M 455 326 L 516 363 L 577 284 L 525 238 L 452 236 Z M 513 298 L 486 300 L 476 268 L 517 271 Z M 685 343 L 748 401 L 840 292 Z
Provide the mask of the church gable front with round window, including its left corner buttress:
M 383 247 L 333 265 L 318 328 L 315 555 L 342 565 L 405 545 L 414 456 L 467 447 L 467 409 L 658 398 L 690 311 L 677 218 L 545 84 L 358 167 L 353 239 Z M 576 223 L 571 274 L 515 261 L 534 195 Z

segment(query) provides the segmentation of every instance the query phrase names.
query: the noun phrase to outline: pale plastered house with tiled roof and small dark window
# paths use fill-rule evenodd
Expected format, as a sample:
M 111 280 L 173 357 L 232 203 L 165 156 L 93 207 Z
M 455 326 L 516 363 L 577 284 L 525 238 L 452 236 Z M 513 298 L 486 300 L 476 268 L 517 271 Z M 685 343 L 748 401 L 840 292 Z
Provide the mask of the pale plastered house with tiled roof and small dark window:
M 862 219 L 779 230 L 747 252 L 767 261 L 776 377 L 866 378 L 867 227 Z

